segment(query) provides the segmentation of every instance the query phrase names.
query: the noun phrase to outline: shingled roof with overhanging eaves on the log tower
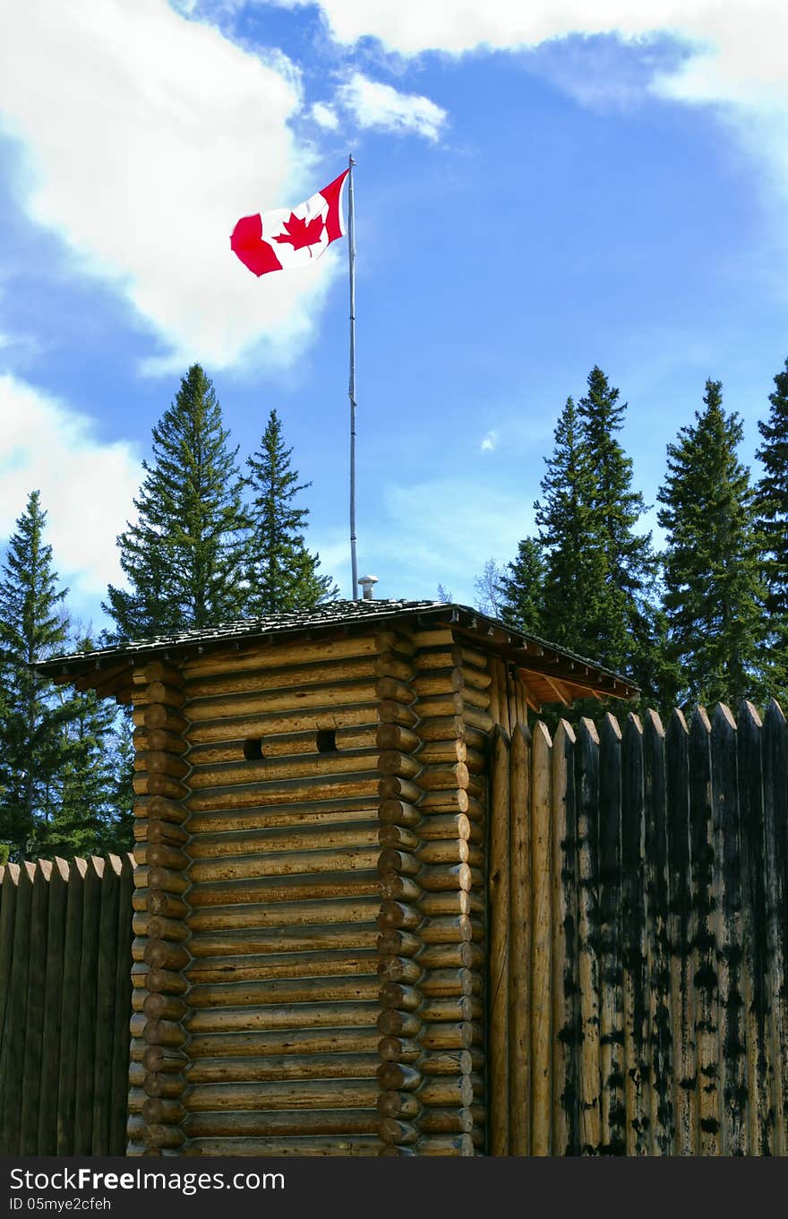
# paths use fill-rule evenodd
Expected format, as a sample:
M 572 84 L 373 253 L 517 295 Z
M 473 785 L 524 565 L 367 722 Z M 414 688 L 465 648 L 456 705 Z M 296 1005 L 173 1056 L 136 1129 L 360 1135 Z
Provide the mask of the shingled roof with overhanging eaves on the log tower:
M 577 656 L 536 635 L 526 635 L 468 606 L 442 601 L 331 601 L 314 610 L 294 613 L 241 618 L 216 627 L 195 628 L 153 639 L 133 640 L 93 651 L 55 656 L 34 667 L 55 681 L 71 681 L 79 689 L 97 689 L 119 695 L 130 668 L 156 657 L 179 658 L 208 650 L 255 642 L 274 644 L 281 636 L 314 638 L 322 634 L 348 634 L 370 624 L 392 625 L 407 620 L 413 625 L 451 627 L 499 652 L 518 669 L 537 683 L 541 702 L 569 702 L 579 697 L 609 696 L 632 698 L 637 686 L 626 677 L 613 673 L 596 661 Z

